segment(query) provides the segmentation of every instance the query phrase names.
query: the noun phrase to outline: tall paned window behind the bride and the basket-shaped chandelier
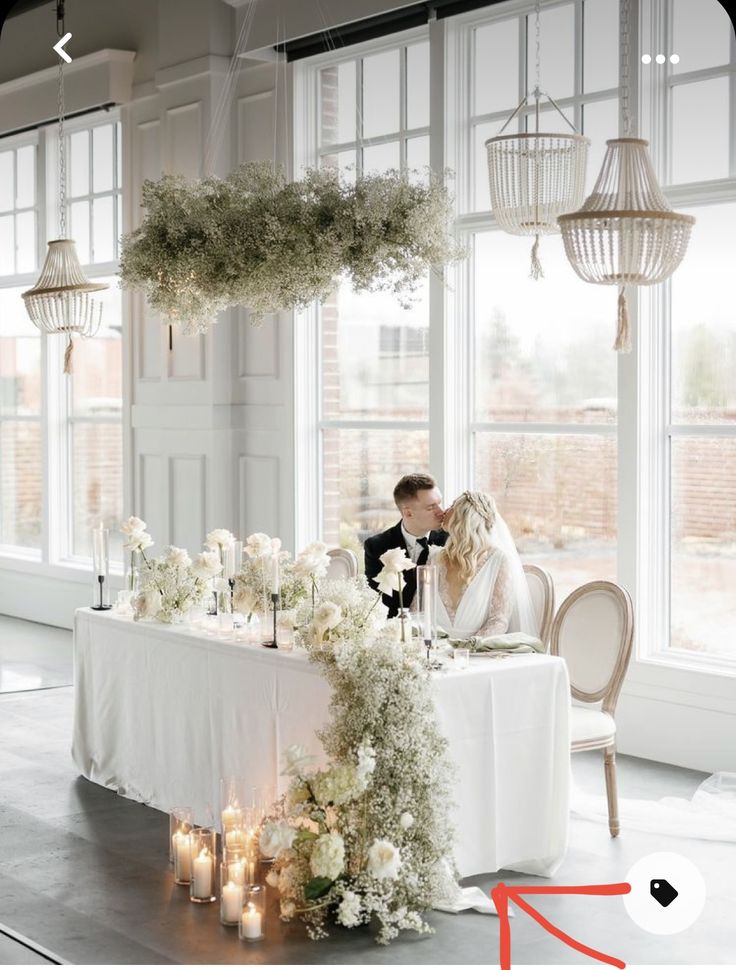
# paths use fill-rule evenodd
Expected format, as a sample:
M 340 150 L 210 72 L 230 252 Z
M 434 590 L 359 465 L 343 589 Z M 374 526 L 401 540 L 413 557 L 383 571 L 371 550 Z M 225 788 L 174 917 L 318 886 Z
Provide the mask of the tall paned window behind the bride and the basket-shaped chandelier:
M 546 566 L 558 598 L 615 579 L 617 375 L 611 294 L 586 286 L 559 237 L 542 241 L 544 279 L 529 278 L 531 240 L 500 232 L 490 213 L 484 142 L 534 87 L 535 18 L 500 5 L 460 33 L 472 64 L 457 227 L 472 253 L 467 288 L 474 387 L 471 481 L 491 492 L 522 556 Z M 540 87 L 592 140 L 588 181 L 618 128 L 617 9 L 563 3 L 540 17 Z M 534 104 L 506 131 L 534 130 Z M 569 130 L 543 101 L 540 130 Z

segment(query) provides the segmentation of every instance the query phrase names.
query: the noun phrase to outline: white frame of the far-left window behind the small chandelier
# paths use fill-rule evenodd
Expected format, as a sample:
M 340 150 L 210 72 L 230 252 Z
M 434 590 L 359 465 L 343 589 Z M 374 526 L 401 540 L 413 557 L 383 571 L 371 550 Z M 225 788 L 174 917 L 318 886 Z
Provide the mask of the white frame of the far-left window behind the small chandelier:
M 117 108 L 81 115 L 65 122 L 67 138 L 75 131 L 92 130 L 104 124 L 119 124 L 120 111 Z M 122 130 L 118 129 L 119 137 Z M 37 226 L 37 267 L 31 273 L 4 277 L 3 284 L 30 288 L 38 278 L 46 256 L 46 241 L 58 238 L 58 128 L 55 124 L 40 126 L 33 132 L 8 136 L 0 140 L 0 146 L 19 147 L 23 144 L 37 144 L 36 158 L 36 226 Z M 68 146 L 67 146 L 68 149 Z M 90 173 L 91 178 L 91 173 Z M 114 186 L 113 198 L 117 200 L 122 193 L 122 172 Z M 113 205 L 114 226 L 118 234 L 122 232 L 119 224 L 118 206 Z M 69 212 L 67 211 L 67 224 Z M 119 272 L 119 261 L 91 263 L 83 267 L 91 277 L 115 276 Z M 124 315 L 124 314 L 123 314 Z M 33 327 L 28 321 L 29 328 Z M 15 572 L 33 573 L 55 579 L 86 580 L 91 558 L 73 556 L 72 549 L 72 479 L 71 479 L 71 431 L 75 423 L 88 419 L 75 418 L 71 414 L 71 387 L 64 377 L 63 356 L 65 345 L 56 337 L 39 334 L 41 341 L 41 451 L 42 451 L 42 532 L 40 549 L 25 549 L 15 546 L 0 546 L 0 569 Z M 124 353 L 124 351 L 123 351 Z M 125 375 L 125 370 L 124 370 Z M 125 387 L 125 379 L 124 379 Z M 123 394 L 122 422 L 125 415 L 128 395 Z M 8 420 L 12 418 L 9 416 Z M 15 419 L 12 419 L 15 420 Z M 93 423 L 120 424 L 121 420 L 95 418 Z M 125 442 L 123 445 L 125 454 Z M 123 462 L 124 491 L 127 488 L 125 461 Z M 122 562 L 111 562 L 112 575 L 122 575 Z

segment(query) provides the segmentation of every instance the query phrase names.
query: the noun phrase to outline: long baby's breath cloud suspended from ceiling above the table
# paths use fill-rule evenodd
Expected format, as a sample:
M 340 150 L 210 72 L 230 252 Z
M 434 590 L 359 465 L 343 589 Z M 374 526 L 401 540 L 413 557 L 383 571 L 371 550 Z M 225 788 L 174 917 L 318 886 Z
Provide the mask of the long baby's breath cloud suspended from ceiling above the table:
M 430 268 L 464 255 L 436 174 L 427 184 L 398 171 L 349 183 L 324 168 L 289 182 L 270 162 L 251 162 L 226 178 L 147 181 L 143 206 L 143 223 L 123 239 L 122 285 L 189 334 L 232 306 L 247 306 L 254 322 L 303 309 L 340 278 L 406 305 Z

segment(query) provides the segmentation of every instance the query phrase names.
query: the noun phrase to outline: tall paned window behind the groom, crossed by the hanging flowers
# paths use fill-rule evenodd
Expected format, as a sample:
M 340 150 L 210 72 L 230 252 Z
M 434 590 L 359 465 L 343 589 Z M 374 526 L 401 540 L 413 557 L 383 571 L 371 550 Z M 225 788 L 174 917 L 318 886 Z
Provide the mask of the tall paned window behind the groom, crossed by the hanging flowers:
M 429 163 L 429 44 L 383 45 L 318 75 L 319 164 L 355 173 Z M 361 552 L 397 518 L 391 492 L 407 464 L 429 464 L 429 311 L 383 293 L 338 288 L 319 311 L 322 532 Z

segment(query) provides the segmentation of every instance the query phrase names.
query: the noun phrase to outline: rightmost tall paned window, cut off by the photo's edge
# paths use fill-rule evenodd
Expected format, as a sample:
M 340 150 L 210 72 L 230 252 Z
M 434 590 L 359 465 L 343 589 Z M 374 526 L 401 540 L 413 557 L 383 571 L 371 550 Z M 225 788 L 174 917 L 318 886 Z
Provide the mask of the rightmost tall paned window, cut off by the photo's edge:
M 660 36 L 679 59 L 652 91 L 665 105 L 661 176 L 697 220 L 657 307 L 668 369 L 665 637 L 673 654 L 736 661 L 736 41 L 718 3 L 672 0 L 664 12 Z

